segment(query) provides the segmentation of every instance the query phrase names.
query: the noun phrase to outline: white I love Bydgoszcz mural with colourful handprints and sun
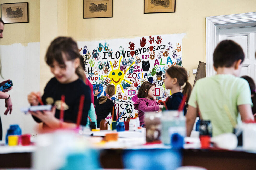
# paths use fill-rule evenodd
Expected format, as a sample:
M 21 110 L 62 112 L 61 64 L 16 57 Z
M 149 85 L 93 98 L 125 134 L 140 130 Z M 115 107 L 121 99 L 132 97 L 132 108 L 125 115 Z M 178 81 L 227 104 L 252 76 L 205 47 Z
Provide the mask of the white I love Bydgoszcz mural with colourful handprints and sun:
M 124 111 L 123 121 L 135 116 L 133 100 L 143 82 L 150 81 L 160 89 L 156 100 L 164 101 L 170 96 L 163 82 L 165 70 L 174 65 L 183 66 L 184 36 L 185 33 L 84 41 L 78 42 L 78 46 L 85 60 L 86 77 L 94 87 L 102 88 L 100 95 L 104 95 L 108 84 L 115 86 L 112 100 L 117 113 Z

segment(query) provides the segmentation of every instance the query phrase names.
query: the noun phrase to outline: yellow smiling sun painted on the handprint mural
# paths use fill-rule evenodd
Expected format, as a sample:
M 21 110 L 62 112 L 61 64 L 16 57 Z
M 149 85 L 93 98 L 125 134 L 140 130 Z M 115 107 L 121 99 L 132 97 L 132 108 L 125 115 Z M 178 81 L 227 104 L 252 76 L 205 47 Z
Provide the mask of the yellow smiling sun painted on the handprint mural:
M 112 71 L 110 71 L 109 75 L 105 75 L 104 77 L 109 77 L 110 78 L 110 84 L 114 84 L 115 85 L 115 92 L 117 92 L 117 85 L 119 85 L 122 89 L 122 92 L 124 92 L 124 89 L 123 89 L 123 86 L 121 84 L 121 82 L 124 80 L 126 81 L 127 83 L 130 83 L 130 81 L 124 79 L 124 76 L 126 74 L 126 72 L 129 70 L 129 68 L 135 63 L 133 62 L 126 70 L 125 72 L 123 72 L 122 70 L 120 70 L 120 65 L 121 65 L 121 59 L 122 59 L 122 56 L 120 56 L 120 59 L 119 59 L 119 65 L 118 65 L 118 68 L 117 69 L 113 69 L 113 65 L 112 65 L 112 62 L 110 61 L 110 65 L 111 65 L 111 69 Z

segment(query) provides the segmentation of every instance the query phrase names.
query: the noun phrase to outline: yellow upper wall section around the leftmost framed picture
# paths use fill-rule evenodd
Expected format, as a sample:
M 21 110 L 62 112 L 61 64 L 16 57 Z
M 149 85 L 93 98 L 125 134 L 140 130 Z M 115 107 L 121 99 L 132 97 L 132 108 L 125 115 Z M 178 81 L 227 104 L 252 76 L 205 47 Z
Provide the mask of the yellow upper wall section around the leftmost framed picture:
M 28 2 L 29 23 L 5 24 L 1 45 L 21 43 L 27 46 L 29 42 L 40 41 L 40 6 L 39 0 L 0 0 L 1 4 L 14 2 Z

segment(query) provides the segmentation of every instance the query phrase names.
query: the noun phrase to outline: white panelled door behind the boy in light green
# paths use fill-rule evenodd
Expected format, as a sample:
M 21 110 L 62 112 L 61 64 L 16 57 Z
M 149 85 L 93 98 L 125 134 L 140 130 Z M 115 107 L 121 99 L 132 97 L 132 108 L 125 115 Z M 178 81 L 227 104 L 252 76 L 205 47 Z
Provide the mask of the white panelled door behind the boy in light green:
M 220 29 L 220 41 L 229 39 L 238 43 L 245 53 L 245 60 L 242 63 L 242 75 L 250 76 L 256 80 L 256 27 Z

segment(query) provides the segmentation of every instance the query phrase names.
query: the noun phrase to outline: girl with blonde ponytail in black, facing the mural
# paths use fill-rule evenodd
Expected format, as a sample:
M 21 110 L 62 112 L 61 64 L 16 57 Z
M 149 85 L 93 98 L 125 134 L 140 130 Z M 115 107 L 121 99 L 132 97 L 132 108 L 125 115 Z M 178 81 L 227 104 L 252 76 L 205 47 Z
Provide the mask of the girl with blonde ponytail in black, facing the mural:
M 112 102 L 111 97 L 115 95 L 115 86 L 109 84 L 105 90 L 106 96 L 101 96 L 97 99 L 98 93 L 101 91 L 95 90 L 94 91 L 94 105 L 95 111 L 97 115 L 97 127 L 100 127 L 100 122 L 102 119 L 105 119 L 109 112 L 112 115 L 113 108 L 114 108 L 114 121 L 116 120 L 115 114 L 115 104 Z

